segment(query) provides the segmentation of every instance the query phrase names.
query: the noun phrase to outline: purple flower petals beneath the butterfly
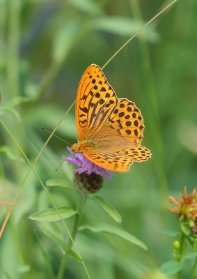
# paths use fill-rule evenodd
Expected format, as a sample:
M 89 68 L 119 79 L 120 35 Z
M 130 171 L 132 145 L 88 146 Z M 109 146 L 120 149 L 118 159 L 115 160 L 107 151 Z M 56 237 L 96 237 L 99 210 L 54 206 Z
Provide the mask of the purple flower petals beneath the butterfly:
M 74 155 L 75 158 L 72 157 L 64 157 L 66 160 L 68 160 L 70 163 L 74 165 L 78 165 L 79 168 L 75 169 L 74 172 L 78 172 L 81 174 L 82 172 L 86 172 L 86 174 L 90 175 L 93 172 L 97 175 L 103 175 L 107 179 L 111 179 L 113 176 L 109 169 L 104 169 L 104 167 L 100 167 L 99 165 L 96 165 L 95 163 L 88 160 L 88 158 L 84 157 L 82 153 L 74 153 L 71 151 L 71 149 L 68 149 L 72 155 Z

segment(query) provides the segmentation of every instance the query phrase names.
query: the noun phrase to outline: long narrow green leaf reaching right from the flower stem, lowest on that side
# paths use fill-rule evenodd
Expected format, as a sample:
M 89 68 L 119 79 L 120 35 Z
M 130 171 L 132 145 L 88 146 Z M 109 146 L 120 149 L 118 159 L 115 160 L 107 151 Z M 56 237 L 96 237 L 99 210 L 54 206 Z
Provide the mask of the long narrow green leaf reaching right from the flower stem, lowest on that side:
M 133 236 L 132 234 L 129 234 L 129 232 L 125 232 L 123 229 L 120 229 L 119 227 L 113 227 L 108 224 L 101 224 L 101 225 L 84 225 L 79 227 L 79 230 L 88 229 L 91 232 L 107 232 L 108 234 L 113 234 L 115 236 L 119 236 L 121 239 L 125 239 L 129 241 L 130 243 L 135 244 L 136 246 L 139 246 L 143 248 L 144 250 L 148 250 L 145 243 L 140 241 L 136 238 L 136 236 Z

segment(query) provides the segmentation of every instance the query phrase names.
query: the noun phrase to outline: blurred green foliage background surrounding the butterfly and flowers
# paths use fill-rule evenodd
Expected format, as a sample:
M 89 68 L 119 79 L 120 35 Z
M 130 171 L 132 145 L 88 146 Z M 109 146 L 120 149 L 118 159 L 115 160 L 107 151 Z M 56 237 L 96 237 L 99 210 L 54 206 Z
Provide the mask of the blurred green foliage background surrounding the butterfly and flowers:
M 169 1 L 161 0 L 1 0 L 0 1 L 0 115 L 31 163 L 49 134 L 74 101 L 84 70 L 100 67 L 143 24 Z M 186 185 L 197 181 L 197 1 L 179 0 L 134 38 L 105 68 L 118 98 L 134 101 L 145 123 L 142 144 L 152 152 L 145 163 L 134 163 L 127 173 L 105 179 L 99 195 L 120 213 L 122 227 L 148 246 L 144 251 L 107 234 L 79 232 L 77 247 L 91 278 L 166 278 L 159 266 L 173 259 L 172 243 L 157 232 L 175 229 L 176 218 L 166 210 L 168 195 L 178 198 Z M 22 96 L 23 98 L 19 98 Z M 74 107 L 56 135 L 74 144 L 77 129 Z M 29 165 L 0 126 L 0 200 L 13 202 Z M 6 147 L 5 147 L 6 145 Z M 9 148 L 7 146 L 10 146 Z M 64 163 L 67 146 L 53 137 L 36 171 L 49 179 L 71 179 Z M 76 194 L 50 188 L 56 205 L 75 207 Z M 13 208 L 0 241 L 0 278 L 50 278 L 42 246 L 56 274 L 62 251 L 28 217 L 52 207 L 31 173 Z M 0 225 L 8 205 L 0 205 Z M 72 229 L 73 219 L 66 220 Z M 93 201 L 88 201 L 82 223 L 116 223 Z M 44 224 L 65 240 L 60 221 Z M 191 264 L 184 269 L 188 278 Z M 24 272 L 28 271 L 28 272 Z M 197 275 L 196 275 L 197 276 Z M 64 278 L 86 278 L 80 264 L 69 259 Z M 171 276 L 171 278 L 175 278 Z

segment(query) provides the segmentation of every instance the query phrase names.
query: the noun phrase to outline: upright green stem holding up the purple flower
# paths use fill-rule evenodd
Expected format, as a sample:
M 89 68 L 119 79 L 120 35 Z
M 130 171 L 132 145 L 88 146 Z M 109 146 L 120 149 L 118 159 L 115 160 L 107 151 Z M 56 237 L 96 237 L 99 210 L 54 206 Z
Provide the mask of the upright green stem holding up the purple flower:
M 87 195 L 84 195 L 84 194 L 81 194 L 81 193 L 79 193 L 79 195 L 78 195 L 78 200 L 77 200 L 77 212 L 78 213 L 75 216 L 74 225 L 73 225 L 73 229 L 72 229 L 72 233 L 71 233 L 71 236 L 72 236 L 73 240 L 74 240 L 75 236 L 77 235 L 77 231 L 78 231 L 79 225 L 81 223 L 81 218 L 82 218 L 82 215 L 83 215 L 84 206 L 86 204 L 87 198 L 88 198 Z M 69 247 L 72 246 L 71 239 L 68 240 L 67 245 Z M 58 270 L 58 276 L 57 276 L 56 279 L 62 279 L 63 278 L 63 273 L 65 271 L 65 266 L 66 266 L 66 263 L 67 263 L 67 260 L 68 260 L 68 256 L 69 256 L 68 253 L 65 253 L 65 255 L 63 256 L 63 258 L 61 260 L 61 265 L 60 265 L 59 270 Z M 85 271 L 86 271 L 86 269 L 85 269 Z M 86 273 L 87 272 L 88 271 L 86 271 Z M 88 275 L 88 273 L 87 273 L 87 275 Z

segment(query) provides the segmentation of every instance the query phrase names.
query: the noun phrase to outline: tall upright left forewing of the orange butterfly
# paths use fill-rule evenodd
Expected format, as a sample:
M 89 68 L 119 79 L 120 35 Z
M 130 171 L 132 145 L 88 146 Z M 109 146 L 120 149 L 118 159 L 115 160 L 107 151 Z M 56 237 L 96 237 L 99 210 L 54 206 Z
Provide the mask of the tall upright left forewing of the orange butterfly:
M 102 70 L 95 64 L 90 65 L 81 78 L 77 93 L 76 119 L 79 121 L 79 140 L 90 138 L 99 130 L 109 119 L 116 103 L 116 94 Z

